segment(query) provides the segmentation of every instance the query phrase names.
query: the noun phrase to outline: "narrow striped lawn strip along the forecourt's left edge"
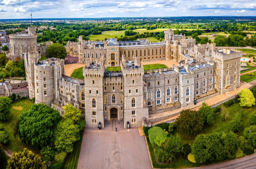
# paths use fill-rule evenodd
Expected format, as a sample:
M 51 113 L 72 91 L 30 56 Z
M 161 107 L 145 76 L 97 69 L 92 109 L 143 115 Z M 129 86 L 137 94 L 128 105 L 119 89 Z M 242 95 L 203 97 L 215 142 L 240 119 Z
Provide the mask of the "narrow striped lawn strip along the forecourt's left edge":
M 84 134 L 84 131 L 82 131 L 79 134 L 80 139 L 77 142 L 75 142 L 72 153 L 69 153 L 67 155 L 66 161 L 63 166 L 64 169 L 76 169 L 77 164 L 78 164 L 80 149 L 81 149 L 81 145 L 82 145 L 83 134 Z

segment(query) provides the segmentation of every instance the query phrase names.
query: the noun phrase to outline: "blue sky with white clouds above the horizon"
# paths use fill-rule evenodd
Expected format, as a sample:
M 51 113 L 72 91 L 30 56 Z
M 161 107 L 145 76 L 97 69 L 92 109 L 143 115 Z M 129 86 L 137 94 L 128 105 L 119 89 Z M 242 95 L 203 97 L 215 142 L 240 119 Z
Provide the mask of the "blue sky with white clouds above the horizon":
M 255 16 L 254 0 L 0 0 L 0 19 Z

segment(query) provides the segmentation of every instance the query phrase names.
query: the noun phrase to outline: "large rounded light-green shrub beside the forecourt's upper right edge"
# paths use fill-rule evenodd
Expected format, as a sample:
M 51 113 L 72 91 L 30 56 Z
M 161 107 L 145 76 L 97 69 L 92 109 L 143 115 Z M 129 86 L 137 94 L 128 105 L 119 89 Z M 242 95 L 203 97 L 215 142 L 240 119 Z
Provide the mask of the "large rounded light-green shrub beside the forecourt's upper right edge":
M 155 143 L 158 146 L 161 145 L 162 142 L 165 142 L 167 139 L 167 135 L 164 130 L 160 127 L 152 127 L 148 130 L 149 133 L 149 141 L 151 144 Z

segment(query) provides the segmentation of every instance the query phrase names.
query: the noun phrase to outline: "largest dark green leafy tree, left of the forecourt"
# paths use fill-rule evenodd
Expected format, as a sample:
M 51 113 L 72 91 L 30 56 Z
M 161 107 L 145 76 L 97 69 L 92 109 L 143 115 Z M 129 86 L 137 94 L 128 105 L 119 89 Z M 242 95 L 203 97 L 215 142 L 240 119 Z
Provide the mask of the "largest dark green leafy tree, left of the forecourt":
M 57 110 L 44 104 L 33 104 L 18 117 L 21 142 L 35 147 L 52 144 L 54 130 L 61 119 Z

